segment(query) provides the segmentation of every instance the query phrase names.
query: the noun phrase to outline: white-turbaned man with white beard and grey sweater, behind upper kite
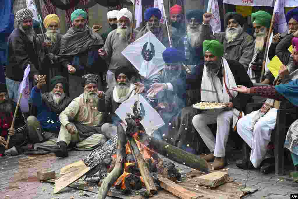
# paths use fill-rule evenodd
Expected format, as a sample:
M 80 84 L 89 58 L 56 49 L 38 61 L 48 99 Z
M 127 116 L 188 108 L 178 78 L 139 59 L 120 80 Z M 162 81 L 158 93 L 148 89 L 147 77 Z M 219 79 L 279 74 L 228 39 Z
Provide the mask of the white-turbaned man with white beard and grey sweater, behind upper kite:
M 136 38 L 138 31 L 133 31 L 131 37 L 131 20 L 132 13 L 127 8 L 122 8 L 117 14 L 118 27 L 116 30 L 111 31 L 105 41 L 105 46 L 98 50 L 98 54 L 103 57 L 109 64 L 106 81 L 108 87 L 114 87 L 115 71 L 120 66 L 127 66 L 134 68 L 131 63 L 121 54 L 121 52 Z

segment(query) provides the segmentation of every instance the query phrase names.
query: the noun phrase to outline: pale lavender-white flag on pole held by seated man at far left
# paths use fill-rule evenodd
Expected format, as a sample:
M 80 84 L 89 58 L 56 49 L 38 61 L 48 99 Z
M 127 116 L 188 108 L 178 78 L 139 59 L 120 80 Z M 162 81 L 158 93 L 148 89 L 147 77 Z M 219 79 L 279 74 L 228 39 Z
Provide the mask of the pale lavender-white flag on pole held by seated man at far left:
M 29 98 L 30 98 L 30 87 L 29 87 L 29 73 L 30 73 L 30 64 L 28 64 L 27 68 L 24 72 L 23 81 L 19 86 L 19 96 L 21 93 L 22 98 L 20 101 L 20 107 L 23 112 L 29 112 Z

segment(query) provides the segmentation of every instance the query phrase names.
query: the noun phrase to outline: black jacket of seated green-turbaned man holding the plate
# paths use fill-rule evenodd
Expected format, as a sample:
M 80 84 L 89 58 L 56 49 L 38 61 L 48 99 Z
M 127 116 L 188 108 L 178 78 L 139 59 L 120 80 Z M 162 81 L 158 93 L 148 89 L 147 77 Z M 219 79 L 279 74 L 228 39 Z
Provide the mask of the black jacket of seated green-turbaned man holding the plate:
M 238 61 L 228 60 L 229 67 L 234 75 L 237 85 L 243 85 L 248 88 L 252 87 L 252 81 L 250 80 L 245 68 Z M 203 77 L 204 64 L 200 64 L 194 68 L 191 74 L 187 75 L 186 79 L 178 79 L 170 82 L 173 85 L 174 91 L 177 93 L 183 93 L 185 90 L 200 89 Z M 218 77 L 222 82 L 222 68 L 218 72 Z M 234 107 L 238 110 L 244 111 L 246 104 L 251 102 L 252 96 L 238 93 L 238 95 L 231 101 Z

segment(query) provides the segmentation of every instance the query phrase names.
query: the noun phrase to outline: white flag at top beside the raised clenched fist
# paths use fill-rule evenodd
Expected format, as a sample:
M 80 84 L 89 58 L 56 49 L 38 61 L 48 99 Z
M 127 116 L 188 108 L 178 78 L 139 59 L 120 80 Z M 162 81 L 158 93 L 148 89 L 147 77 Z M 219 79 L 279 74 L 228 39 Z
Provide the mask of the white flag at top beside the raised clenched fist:
M 210 20 L 210 25 L 212 27 L 212 32 L 220 33 L 221 32 L 221 19 L 219 17 L 219 9 L 218 9 L 218 1 L 217 0 L 209 0 L 207 12 L 211 12 L 213 14 L 212 19 Z

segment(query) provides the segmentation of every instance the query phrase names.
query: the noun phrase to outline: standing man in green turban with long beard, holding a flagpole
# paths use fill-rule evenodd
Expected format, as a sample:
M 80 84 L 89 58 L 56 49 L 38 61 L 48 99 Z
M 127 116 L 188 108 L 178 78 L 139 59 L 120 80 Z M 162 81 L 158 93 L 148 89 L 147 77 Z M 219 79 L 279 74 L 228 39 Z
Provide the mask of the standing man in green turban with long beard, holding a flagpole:
M 253 83 L 259 83 L 261 70 L 263 65 L 263 59 L 266 48 L 267 36 L 270 28 L 272 16 L 263 11 L 259 10 L 255 13 L 252 13 L 252 24 L 254 26 L 254 55 L 252 61 L 249 64 L 247 73 L 249 78 Z M 272 84 L 274 77 L 269 72 L 265 75 L 265 81 L 261 82 L 263 84 Z

